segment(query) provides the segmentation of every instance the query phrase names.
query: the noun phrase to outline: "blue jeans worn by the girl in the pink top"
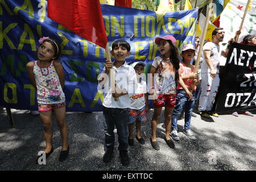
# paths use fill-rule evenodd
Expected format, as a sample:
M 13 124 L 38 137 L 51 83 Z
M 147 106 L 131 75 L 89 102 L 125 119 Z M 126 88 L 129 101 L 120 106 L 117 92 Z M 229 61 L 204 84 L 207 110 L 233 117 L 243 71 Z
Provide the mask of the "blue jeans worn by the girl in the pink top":
M 191 123 L 191 114 L 193 107 L 195 105 L 195 91 L 192 92 L 193 97 L 192 101 L 189 101 L 185 90 L 178 89 L 176 93 L 176 104 L 174 107 L 174 112 L 172 113 L 172 130 L 177 130 L 177 119 L 179 118 L 181 111 L 184 108 L 185 111 L 185 125 L 184 129 L 188 130 L 190 129 L 190 123 Z

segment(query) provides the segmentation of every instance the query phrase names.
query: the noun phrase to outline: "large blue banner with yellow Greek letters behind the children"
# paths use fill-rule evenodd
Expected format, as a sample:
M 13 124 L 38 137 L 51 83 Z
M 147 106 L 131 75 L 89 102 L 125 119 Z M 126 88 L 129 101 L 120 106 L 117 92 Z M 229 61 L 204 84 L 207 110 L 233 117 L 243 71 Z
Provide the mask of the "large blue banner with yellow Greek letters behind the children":
M 168 12 L 156 22 L 154 11 L 101 7 L 110 46 L 118 39 L 129 42 L 131 55 L 126 61 L 144 61 L 144 73 L 150 72 L 159 55 L 157 36 L 175 36 L 179 49 L 195 43 L 198 9 Z M 37 59 L 42 36 L 57 40 L 63 48 L 59 60 L 65 71 L 67 111 L 101 111 L 104 93 L 97 89 L 97 77 L 104 68 L 105 49 L 47 18 L 46 0 L 0 1 L 0 106 L 37 110 L 26 64 Z

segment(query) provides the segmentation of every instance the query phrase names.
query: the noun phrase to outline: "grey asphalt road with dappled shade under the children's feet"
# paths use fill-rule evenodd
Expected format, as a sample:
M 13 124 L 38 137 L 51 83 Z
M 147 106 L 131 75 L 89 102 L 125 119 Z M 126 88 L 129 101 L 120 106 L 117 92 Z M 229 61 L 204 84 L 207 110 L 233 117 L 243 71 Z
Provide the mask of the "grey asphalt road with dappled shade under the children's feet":
M 184 121 L 178 121 L 180 141 L 171 149 L 164 142 L 163 112 L 158 124 L 160 150 L 155 151 L 150 144 L 151 117 L 142 123 L 142 137 L 146 144 L 135 139 L 129 147 L 130 165 L 123 167 L 118 158 L 116 135 L 115 157 L 112 162 L 102 162 L 104 155 L 104 127 L 102 112 L 91 114 L 68 112 L 69 157 L 59 162 L 61 150 L 60 132 L 54 120 L 53 146 L 55 151 L 47 159 L 46 165 L 35 164 L 38 151 L 44 150 L 45 142 L 39 116 L 27 110 L 11 110 L 15 128 L 9 127 L 6 112 L 0 111 L 0 170 L 35 171 L 226 171 L 256 169 L 256 114 L 254 117 L 220 115 L 212 119 L 192 118 L 191 129 L 197 140 L 193 141 L 183 133 Z M 134 130 L 135 131 L 135 130 Z M 116 134 L 116 133 L 115 133 Z

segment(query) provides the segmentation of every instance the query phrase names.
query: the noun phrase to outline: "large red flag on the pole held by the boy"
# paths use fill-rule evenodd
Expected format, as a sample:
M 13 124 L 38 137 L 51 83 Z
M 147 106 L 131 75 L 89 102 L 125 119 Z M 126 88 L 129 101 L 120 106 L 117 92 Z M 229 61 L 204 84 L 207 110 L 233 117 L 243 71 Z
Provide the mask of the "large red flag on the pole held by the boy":
M 82 38 L 105 48 L 107 43 L 99 0 L 48 0 L 48 17 Z

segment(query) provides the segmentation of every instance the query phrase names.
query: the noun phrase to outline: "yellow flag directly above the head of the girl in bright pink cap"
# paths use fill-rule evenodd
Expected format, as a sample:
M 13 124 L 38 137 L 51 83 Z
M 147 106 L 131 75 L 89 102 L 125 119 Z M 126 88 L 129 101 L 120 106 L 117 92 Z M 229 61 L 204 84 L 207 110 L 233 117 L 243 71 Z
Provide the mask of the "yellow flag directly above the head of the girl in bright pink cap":
M 156 21 L 159 22 L 161 18 L 166 14 L 167 11 L 174 11 L 173 0 L 161 0 L 156 13 Z

